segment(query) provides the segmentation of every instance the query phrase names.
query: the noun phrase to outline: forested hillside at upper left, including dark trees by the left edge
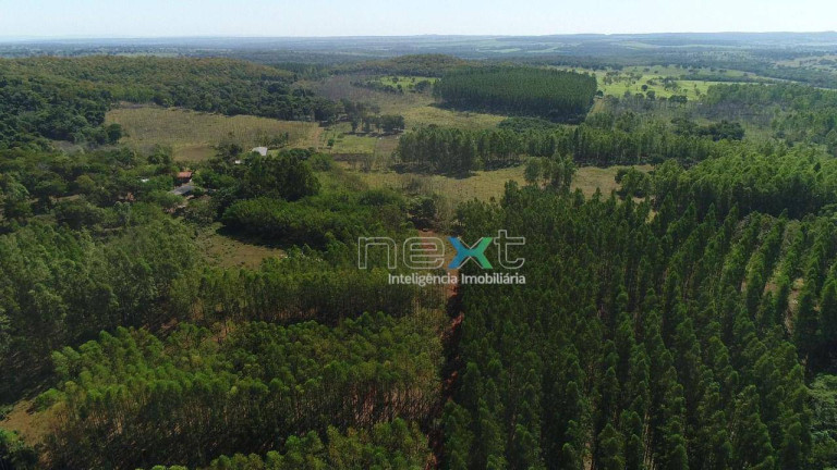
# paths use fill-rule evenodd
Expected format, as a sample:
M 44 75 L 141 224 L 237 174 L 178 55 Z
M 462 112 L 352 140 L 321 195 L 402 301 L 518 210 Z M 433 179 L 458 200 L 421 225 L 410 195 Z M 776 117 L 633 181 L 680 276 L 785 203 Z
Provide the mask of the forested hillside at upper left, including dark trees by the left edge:
M 114 143 L 105 112 L 119 101 L 221 114 L 328 121 L 337 103 L 292 89 L 293 74 L 228 59 L 85 57 L 0 61 L 0 147 L 43 138 Z

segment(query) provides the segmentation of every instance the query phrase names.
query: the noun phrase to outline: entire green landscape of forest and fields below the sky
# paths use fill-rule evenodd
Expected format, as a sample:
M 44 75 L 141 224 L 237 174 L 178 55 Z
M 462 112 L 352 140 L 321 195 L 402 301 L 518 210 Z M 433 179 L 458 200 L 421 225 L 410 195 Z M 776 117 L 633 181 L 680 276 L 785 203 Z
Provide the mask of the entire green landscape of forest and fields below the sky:
M 0 469 L 837 468 L 833 54 L 391 40 L 0 60 Z

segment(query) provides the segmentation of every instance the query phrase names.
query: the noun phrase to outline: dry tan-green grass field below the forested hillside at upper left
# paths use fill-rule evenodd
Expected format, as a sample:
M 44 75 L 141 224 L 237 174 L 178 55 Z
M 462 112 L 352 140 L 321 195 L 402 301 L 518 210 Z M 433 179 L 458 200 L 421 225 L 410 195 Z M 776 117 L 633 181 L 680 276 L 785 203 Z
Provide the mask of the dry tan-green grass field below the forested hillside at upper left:
M 171 147 L 174 159 L 201 161 L 213 154 L 213 146 L 230 138 L 244 148 L 256 147 L 265 138 L 288 133 L 293 147 L 316 147 L 319 125 L 278 121 L 248 115 L 225 116 L 179 109 L 123 107 L 109 111 L 107 123 L 118 123 L 126 133 L 122 143 L 148 151 L 155 145 Z

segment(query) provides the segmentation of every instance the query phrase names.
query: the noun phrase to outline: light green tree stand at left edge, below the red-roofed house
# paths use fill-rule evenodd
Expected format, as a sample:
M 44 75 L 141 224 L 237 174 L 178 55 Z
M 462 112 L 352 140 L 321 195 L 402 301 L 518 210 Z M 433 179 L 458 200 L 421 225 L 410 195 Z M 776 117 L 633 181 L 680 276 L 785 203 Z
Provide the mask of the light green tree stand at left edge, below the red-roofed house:
M 170 320 L 177 280 L 196 262 L 185 227 L 153 208 L 123 207 L 120 218 L 124 233 L 112 239 L 43 223 L 0 239 L 0 352 L 4 378 L 15 378 L 0 381 L 4 396 L 48 370 L 59 344 Z

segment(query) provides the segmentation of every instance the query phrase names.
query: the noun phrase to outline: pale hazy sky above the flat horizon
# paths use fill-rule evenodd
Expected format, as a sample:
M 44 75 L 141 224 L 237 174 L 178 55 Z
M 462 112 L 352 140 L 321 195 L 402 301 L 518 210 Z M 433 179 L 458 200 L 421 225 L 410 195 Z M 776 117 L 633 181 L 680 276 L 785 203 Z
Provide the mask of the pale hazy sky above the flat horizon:
M 0 37 L 834 29 L 835 0 L 0 0 Z

